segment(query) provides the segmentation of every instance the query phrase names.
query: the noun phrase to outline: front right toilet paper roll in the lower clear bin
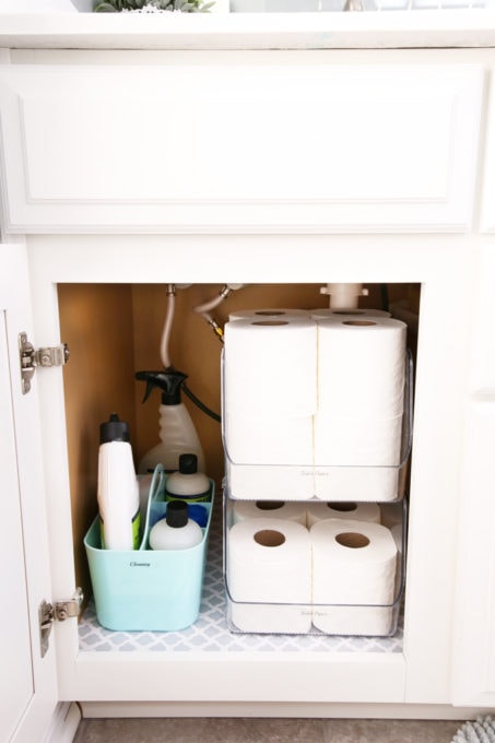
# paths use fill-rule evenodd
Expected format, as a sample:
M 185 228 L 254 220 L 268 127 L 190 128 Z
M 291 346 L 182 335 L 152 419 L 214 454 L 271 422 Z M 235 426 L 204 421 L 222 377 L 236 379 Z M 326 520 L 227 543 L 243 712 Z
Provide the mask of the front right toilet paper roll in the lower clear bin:
M 313 623 L 327 634 L 387 635 L 392 622 L 397 546 L 389 529 L 328 519 L 309 530 Z

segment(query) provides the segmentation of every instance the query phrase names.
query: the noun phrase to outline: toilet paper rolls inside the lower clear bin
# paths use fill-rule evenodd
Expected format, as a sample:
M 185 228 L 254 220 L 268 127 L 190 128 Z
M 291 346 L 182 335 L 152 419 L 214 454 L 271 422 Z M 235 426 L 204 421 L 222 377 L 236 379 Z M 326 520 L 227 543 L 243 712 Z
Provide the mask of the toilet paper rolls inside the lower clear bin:
M 260 505 L 232 506 L 226 585 L 234 628 L 377 636 L 394 630 L 401 545 L 378 523 L 377 504 L 333 512 L 311 504 L 307 526 L 300 504 Z

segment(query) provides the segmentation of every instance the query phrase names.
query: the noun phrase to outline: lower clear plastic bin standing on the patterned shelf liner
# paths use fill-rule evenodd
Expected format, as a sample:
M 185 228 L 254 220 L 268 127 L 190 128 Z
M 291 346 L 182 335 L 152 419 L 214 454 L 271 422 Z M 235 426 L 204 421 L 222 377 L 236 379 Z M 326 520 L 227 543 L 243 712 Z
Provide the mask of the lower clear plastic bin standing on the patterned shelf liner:
M 300 505 L 300 504 L 299 504 Z M 397 544 L 397 567 L 393 579 L 393 598 L 387 604 L 352 603 L 282 603 L 243 601 L 236 587 L 228 583 L 228 531 L 232 527 L 233 508 L 228 497 L 224 500 L 224 580 L 228 628 L 240 634 L 328 635 L 391 637 L 397 633 L 405 582 L 406 550 L 406 499 L 397 504 L 380 504 L 388 509 L 391 519 L 388 528 Z M 382 511 L 384 514 L 384 511 Z M 333 519 L 335 522 L 337 520 Z M 342 523 L 345 523 L 342 521 Z M 302 526 L 300 523 L 298 524 Z M 272 550 L 267 545 L 268 550 Z M 329 575 L 331 566 L 328 565 Z M 264 575 L 261 578 L 264 580 Z

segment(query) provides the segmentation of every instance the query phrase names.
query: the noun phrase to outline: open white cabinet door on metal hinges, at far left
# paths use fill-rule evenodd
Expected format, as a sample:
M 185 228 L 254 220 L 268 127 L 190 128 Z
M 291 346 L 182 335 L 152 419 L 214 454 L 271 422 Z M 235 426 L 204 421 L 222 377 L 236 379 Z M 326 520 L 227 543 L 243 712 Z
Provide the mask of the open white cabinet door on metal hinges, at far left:
M 0 738 L 40 740 L 56 706 L 55 653 L 42 658 L 38 606 L 50 600 L 37 400 L 21 392 L 17 334 L 30 331 L 26 257 L 0 245 L 2 586 Z M 35 384 L 33 385 L 35 388 Z

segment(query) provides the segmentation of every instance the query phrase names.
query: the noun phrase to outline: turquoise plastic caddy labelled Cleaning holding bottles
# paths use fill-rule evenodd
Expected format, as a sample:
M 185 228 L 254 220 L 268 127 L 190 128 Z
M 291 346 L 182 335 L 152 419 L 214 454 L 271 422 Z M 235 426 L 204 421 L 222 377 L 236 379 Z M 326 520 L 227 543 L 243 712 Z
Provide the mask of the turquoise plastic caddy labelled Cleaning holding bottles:
M 165 475 L 153 475 L 143 538 L 139 550 L 102 550 L 99 517 L 84 538 L 99 624 L 117 630 L 177 630 L 196 622 L 201 603 L 208 539 L 214 499 L 207 509 L 202 541 L 187 550 L 149 550 L 151 528 L 166 514 Z M 198 507 L 198 506 L 196 506 Z

